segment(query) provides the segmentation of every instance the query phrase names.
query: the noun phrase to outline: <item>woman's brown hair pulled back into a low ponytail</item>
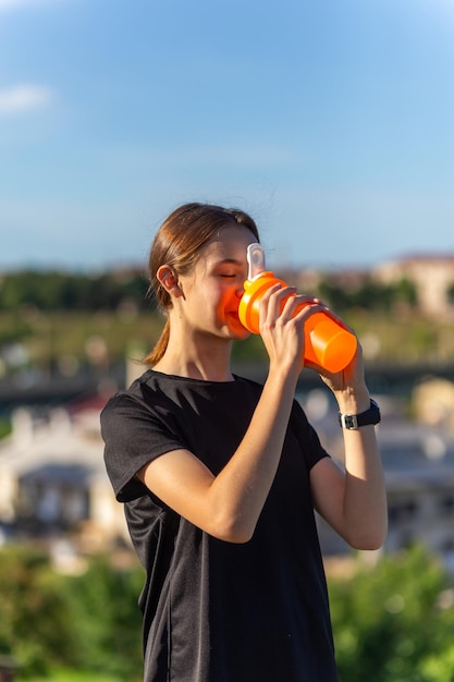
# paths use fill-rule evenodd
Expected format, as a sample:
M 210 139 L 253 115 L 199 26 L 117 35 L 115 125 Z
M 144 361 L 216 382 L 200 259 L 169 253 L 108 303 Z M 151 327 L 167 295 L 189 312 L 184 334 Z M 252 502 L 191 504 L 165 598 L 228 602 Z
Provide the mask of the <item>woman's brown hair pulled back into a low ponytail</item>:
M 156 297 L 161 312 L 167 313 L 171 297 L 157 278 L 158 269 L 169 265 L 177 275 L 186 275 L 199 258 L 201 247 L 229 224 L 244 226 L 259 241 L 258 229 L 250 216 L 237 208 L 223 208 L 212 204 L 184 204 L 176 208 L 159 228 L 150 249 L 150 293 Z M 147 365 L 156 365 L 169 343 L 170 322 L 154 350 L 145 358 Z

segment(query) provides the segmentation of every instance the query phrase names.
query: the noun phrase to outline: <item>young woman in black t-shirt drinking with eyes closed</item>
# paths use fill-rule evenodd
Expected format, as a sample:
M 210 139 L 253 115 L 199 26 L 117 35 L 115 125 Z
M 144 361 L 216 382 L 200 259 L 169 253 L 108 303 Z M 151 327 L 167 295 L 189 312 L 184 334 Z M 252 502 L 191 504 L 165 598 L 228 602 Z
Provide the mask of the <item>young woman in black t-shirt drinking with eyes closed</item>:
M 295 315 L 308 299 L 272 288 L 260 304 L 268 378 L 231 372 L 258 241 L 240 210 L 188 204 L 164 221 L 150 277 L 167 325 L 151 368 L 102 413 L 107 470 L 146 570 L 146 682 L 334 682 L 314 509 L 355 548 L 385 536 L 360 349 L 343 373 L 319 370 L 340 412 L 365 424 L 344 429 L 345 472 L 294 400 L 304 326 L 322 304 Z

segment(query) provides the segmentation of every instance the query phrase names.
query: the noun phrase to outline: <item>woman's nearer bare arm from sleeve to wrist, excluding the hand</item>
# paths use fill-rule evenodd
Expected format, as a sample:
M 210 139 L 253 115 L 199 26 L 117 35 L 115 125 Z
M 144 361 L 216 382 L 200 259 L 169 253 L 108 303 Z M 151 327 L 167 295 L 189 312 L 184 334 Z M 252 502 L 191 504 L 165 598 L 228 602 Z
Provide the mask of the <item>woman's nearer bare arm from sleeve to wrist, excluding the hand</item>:
M 146 465 L 139 478 L 210 535 L 247 541 L 274 479 L 293 390 L 290 380 L 269 376 L 245 437 L 218 476 L 187 450 L 175 450 Z

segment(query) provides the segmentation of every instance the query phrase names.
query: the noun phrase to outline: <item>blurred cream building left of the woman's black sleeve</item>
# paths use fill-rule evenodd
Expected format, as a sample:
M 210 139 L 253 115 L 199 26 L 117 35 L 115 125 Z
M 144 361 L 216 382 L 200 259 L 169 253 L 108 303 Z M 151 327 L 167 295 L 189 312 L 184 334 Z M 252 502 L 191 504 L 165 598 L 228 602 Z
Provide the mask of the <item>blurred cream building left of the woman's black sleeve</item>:
M 13 413 L 0 441 L 0 527 L 15 537 L 77 537 L 94 548 L 127 538 L 103 464 L 100 400 L 37 417 Z

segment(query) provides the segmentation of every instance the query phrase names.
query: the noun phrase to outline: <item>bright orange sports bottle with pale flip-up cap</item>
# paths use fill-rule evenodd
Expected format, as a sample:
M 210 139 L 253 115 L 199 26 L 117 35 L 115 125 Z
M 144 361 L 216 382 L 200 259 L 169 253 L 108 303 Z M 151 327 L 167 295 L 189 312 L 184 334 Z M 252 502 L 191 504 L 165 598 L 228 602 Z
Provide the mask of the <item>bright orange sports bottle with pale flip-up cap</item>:
M 267 289 L 280 283 L 273 272 L 266 270 L 265 254 L 260 244 L 250 244 L 247 247 L 247 263 L 249 272 L 244 283 L 244 294 L 240 301 L 240 321 L 253 333 L 259 333 L 259 302 Z M 302 307 L 310 305 L 303 303 Z M 318 365 L 328 372 L 341 372 L 353 360 L 356 353 L 356 337 L 341 327 L 327 313 L 316 313 L 305 322 L 305 360 Z

